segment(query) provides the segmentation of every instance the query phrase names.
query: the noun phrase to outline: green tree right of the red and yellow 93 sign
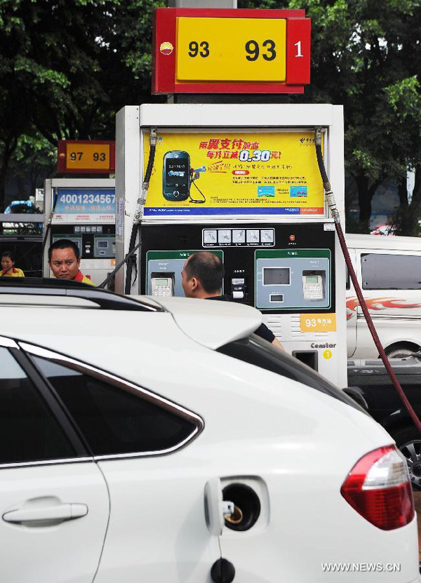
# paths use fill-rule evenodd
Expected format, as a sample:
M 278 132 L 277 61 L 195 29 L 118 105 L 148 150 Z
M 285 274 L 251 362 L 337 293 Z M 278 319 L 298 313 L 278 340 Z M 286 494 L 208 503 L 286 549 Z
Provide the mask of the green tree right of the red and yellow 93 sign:
M 419 0 L 246 1 L 241 6 L 305 8 L 312 19 L 312 82 L 298 102 L 344 105 L 345 168 L 356 182 L 360 219 L 386 179 L 420 174 L 421 5 Z M 406 192 L 406 190 L 405 190 Z M 415 199 L 417 196 L 415 196 Z

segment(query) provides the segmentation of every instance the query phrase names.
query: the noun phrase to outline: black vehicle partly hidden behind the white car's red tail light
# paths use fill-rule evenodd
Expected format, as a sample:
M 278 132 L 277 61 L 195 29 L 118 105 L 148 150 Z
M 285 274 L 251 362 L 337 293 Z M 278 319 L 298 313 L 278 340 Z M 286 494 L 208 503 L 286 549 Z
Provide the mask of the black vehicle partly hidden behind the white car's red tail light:
M 408 401 L 421 417 L 421 359 L 414 356 L 392 358 L 390 363 Z M 421 435 L 382 361 L 378 358 L 349 360 L 348 384 L 347 394 L 352 395 L 394 438 L 406 457 L 413 488 L 421 490 Z

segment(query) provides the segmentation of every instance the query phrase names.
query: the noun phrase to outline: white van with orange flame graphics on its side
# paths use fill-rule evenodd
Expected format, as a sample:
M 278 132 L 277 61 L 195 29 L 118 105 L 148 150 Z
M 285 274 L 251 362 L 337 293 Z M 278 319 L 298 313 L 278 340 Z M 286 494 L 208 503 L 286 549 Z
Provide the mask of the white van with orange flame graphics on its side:
M 389 358 L 421 349 L 421 238 L 347 234 L 349 255 Z M 378 351 L 347 276 L 348 358 Z

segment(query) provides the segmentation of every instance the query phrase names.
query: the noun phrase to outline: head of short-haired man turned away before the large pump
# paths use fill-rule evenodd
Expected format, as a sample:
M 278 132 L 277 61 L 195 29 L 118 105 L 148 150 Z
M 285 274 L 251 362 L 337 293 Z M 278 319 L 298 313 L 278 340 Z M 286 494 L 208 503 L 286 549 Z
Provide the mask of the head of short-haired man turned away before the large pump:
M 199 251 L 187 258 L 181 275 L 186 297 L 211 297 L 220 295 L 224 266 L 215 253 Z

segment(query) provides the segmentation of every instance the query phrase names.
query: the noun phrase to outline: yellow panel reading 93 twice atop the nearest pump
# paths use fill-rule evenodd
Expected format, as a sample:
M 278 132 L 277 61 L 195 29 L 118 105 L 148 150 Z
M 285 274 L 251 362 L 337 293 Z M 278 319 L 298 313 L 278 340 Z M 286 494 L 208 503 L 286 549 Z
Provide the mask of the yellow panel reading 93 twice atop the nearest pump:
M 286 20 L 177 18 L 176 81 L 286 79 Z

